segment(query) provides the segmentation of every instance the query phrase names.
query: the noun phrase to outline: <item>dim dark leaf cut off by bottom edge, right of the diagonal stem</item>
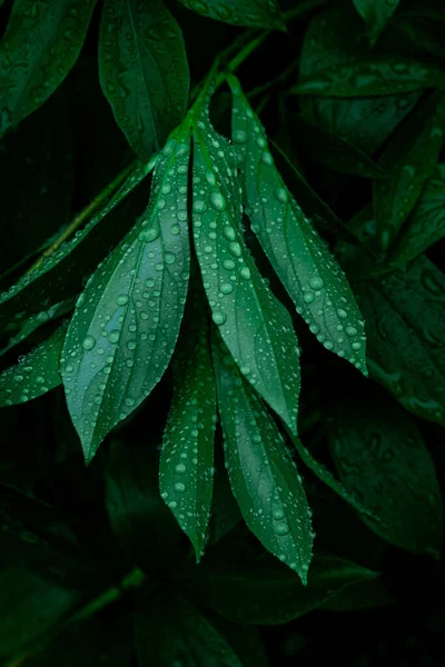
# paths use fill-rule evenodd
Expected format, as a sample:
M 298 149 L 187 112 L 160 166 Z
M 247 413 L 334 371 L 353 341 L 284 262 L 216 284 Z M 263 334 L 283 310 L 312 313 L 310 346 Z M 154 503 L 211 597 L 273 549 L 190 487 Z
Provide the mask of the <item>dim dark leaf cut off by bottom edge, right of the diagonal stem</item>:
M 217 628 L 189 600 L 168 591 L 151 600 L 150 613 L 135 614 L 140 667 L 243 667 Z

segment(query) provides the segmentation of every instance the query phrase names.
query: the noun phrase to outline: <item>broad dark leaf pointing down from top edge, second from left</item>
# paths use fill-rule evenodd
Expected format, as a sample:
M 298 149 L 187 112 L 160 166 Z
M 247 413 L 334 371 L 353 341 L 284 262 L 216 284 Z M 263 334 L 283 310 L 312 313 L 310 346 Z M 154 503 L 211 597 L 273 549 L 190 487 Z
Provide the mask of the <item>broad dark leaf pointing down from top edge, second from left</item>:
M 182 120 L 189 88 L 182 33 L 161 0 L 105 1 L 99 74 L 129 145 L 148 159 Z

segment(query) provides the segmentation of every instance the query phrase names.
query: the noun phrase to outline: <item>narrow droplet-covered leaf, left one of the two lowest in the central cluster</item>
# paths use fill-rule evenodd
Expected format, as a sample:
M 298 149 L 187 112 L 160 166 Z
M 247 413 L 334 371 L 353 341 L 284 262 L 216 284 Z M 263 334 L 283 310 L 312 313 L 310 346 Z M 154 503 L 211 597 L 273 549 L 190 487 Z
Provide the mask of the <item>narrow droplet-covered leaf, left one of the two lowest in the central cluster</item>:
M 175 392 L 164 434 L 159 489 L 199 563 L 214 486 L 216 386 L 206 309 L 198 301 L 187 315 L 174 358 Z

